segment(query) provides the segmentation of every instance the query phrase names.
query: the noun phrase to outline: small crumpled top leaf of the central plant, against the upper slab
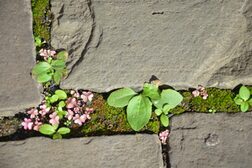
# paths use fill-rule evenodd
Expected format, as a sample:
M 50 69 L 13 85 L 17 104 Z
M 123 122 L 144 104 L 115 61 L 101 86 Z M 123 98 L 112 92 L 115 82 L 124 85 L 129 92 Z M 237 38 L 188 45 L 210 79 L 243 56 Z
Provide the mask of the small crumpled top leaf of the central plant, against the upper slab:
M 145 83 L 143 87 L 143 95 L 148 96 L 152 100 L 160 99 L 158 86 L 154 84 Z

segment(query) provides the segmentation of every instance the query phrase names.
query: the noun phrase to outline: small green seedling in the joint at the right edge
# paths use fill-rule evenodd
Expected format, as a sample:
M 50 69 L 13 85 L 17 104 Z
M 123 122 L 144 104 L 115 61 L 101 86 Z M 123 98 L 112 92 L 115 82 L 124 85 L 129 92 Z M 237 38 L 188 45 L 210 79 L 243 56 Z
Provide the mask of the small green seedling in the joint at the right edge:
M 246 86 L 242 86 L 239 94 L 234 98 L 235 103 L 240 106 L 242 112 L 248 111 L 249 106 L 252 106 L 252 98 L 250 97 L 250 90 Z

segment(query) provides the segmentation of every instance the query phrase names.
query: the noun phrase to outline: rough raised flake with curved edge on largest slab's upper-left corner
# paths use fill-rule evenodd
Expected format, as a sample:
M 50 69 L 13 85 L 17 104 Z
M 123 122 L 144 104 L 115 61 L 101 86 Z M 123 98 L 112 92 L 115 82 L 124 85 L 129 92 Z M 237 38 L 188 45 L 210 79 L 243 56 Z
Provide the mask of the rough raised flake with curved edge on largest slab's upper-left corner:
M 89 3 L 89 0 L 51 0 L 54 14 L 51 44 L 56 49 L 69 51 L 69 69 L 81 59 L 92 36 L 93 17 Z

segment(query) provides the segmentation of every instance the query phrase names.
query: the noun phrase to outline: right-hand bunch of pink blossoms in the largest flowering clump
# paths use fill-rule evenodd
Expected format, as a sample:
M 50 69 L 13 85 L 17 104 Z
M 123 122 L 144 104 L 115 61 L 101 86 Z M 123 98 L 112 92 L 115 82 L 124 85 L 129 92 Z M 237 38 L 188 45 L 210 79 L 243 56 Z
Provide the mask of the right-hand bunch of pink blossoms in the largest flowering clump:
M 94 111 L 93 108 L 86 107 L 93 100 L 94 94 L 92 92 L 78 92 L 71 90 L 72 97 L 66 101 L 67 115 L 66 118 L 75 124 L 81 126 L 87 120 L 90 120 L 90 114 Z

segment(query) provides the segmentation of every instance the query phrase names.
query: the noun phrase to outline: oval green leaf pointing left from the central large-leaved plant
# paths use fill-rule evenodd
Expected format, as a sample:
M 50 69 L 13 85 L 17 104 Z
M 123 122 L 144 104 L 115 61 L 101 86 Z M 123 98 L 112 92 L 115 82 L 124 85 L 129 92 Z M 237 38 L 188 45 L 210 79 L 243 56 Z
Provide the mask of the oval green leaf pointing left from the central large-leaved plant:
M 137 93 L 130 88 L 122 88 L 112 92 L 108 97 L 108 104 L 113 107 L 127 106 L 129 100 Z

